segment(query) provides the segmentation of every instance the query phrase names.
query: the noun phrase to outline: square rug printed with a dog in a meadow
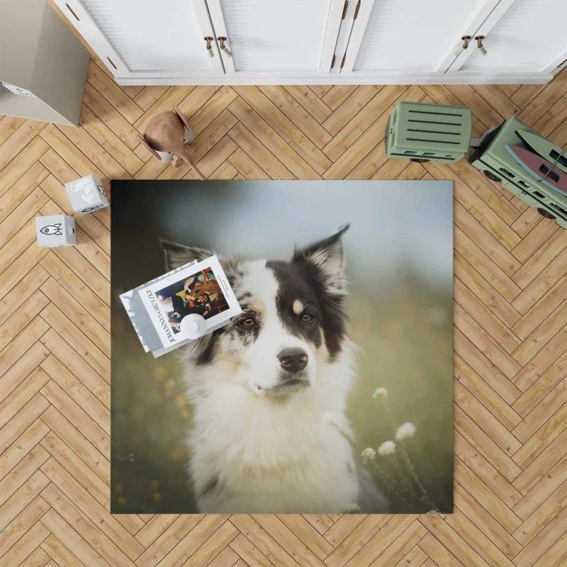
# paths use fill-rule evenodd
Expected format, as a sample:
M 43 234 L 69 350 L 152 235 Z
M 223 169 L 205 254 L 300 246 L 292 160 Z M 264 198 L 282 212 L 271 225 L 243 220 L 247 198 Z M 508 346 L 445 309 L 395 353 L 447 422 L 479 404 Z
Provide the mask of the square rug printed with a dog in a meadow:
M 113 513 L 453 506 L 451 181 L 113 181 Z M 217 254 L 242 307 L 154 358 L 120 294 Z

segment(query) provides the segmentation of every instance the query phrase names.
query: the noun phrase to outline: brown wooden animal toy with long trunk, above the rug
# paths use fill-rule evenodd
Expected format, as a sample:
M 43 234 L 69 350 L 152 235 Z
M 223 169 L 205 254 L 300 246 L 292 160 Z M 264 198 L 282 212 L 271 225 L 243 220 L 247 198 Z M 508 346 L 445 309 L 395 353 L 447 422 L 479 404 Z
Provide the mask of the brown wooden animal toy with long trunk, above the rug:
M 187 145 L 194 139 L 189 123 L 174 106 L 172 111 L 160 112 L 147 123 L 142 142 L 160 162 L 172 162 L 174 167 L 181 167 L 185 162 L 195 170 L 199 179 L 205 179 L 191 159 L 193 148 Z

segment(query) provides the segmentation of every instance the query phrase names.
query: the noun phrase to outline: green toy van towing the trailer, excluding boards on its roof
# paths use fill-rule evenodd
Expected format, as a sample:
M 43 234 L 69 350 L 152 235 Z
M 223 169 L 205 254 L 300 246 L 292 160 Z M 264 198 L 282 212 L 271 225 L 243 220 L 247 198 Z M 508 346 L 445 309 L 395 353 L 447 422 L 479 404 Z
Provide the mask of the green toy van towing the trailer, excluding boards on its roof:
M 555 218 L 559 226 L 567 228 L 567 196 L 534 179 L 507 152 L 506 144 L 515 144 L 529 150 L 516 135 L 516 130 L 527 130 L 539 136 L 517 118 L 510 118 L 500 128 L 483 137 L 483 145 L 471 152 L 468 162 L 480 169 L 488 179 L 502 181 L 508 191 L 528 205 L 537 207 L 541 215 Z

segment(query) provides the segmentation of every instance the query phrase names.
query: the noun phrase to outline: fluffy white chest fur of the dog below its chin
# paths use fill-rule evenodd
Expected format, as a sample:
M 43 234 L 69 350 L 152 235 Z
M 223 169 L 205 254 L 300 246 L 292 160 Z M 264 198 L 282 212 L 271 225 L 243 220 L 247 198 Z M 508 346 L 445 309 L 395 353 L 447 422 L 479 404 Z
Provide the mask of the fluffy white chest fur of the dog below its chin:
M 322 423 L 330 400 L 316 389 L 278 402 L 227 385 L 198 400 L 191 477 L 201 512 L 341 513 L 358 502 L 352 449 Z

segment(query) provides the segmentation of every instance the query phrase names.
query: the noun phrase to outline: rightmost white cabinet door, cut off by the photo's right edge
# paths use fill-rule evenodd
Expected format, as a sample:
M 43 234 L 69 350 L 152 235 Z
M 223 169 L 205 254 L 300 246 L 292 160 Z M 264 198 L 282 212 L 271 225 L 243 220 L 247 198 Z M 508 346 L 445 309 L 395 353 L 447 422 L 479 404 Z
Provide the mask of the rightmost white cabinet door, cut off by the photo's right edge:
M 449 74 L 554 72 L 567 58 L 566 21 L 567 0 L 503 0 L 474 33 L 486 55 L 471 45 Z

